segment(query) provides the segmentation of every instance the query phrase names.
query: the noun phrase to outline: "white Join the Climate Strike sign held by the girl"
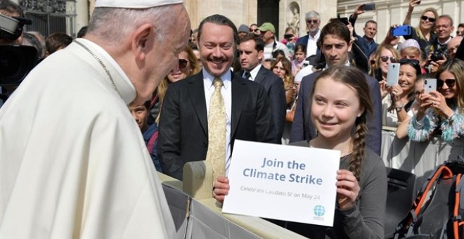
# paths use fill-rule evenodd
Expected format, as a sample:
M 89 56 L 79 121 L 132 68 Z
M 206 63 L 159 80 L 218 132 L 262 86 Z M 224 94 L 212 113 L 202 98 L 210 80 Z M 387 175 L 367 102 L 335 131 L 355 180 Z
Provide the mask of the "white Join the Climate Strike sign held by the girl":
M 222 212 L 333 226 L 340 151 L 236 140 Z

